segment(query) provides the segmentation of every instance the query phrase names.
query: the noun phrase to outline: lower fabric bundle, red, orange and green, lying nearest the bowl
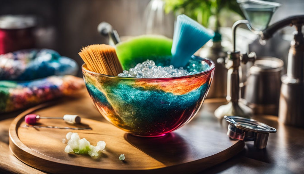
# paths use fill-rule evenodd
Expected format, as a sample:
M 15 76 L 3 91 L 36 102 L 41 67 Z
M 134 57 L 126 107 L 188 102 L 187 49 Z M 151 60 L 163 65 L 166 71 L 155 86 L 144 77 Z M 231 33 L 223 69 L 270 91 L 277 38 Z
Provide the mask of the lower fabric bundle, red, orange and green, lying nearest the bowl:
M 75 76 L 49 76 L 27 82 L 0 81 L 0 112 L 26 108 L 63 95 L 71 95 L 84 87 Z

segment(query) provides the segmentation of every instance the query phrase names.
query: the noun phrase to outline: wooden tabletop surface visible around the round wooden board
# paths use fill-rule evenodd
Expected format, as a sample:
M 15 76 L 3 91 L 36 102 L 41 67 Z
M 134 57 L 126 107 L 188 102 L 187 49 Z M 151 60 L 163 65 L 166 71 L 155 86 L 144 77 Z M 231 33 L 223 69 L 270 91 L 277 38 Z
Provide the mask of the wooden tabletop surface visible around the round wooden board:
M 78 95 L 79 98 L 87 96 L 85 90 Z M 58 101 L 77 102 L 78 97 Z M 218 126 L 219 131 L 226 131 L 226 127 L 219 126 L 213 115 L 214 110 L 224 102 L 224 99 L 207 99 L 192 122 L 208 120 L 212 126 Z M 19 113 L 21 111 L 0 115 L 0 173 L 44 173 L 22 163 L 9 150 L 9 126 Z M 99 114 L 89 118 L 101 120 Z M 277 133 L 270 134 L 267 148 L 258 150 L 253 147 L 253 142 L 247 142 L 240 154 L 204 173 L 304 173 L 304 129 L 285 126 L 271 115 L 259 115 L 254 119 L 277 129 Z

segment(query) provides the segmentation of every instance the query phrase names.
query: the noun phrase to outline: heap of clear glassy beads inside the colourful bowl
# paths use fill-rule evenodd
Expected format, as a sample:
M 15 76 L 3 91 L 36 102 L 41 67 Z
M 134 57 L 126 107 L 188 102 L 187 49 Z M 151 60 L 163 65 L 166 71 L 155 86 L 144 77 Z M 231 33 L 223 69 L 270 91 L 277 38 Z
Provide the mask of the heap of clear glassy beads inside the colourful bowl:
M 170 66 L 156 66 L 153 60 L 147 60 L 143 63 L 138 63 L 134 68 L 124 70 L 123 73 L 118 74 L 121 77 L 136 77 L 136 78 L 168 78 L 179 77 L 195 74 L 195 72 L 188 72 L 183 67 L 174 68 Z

